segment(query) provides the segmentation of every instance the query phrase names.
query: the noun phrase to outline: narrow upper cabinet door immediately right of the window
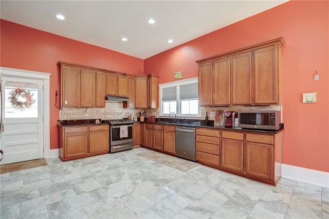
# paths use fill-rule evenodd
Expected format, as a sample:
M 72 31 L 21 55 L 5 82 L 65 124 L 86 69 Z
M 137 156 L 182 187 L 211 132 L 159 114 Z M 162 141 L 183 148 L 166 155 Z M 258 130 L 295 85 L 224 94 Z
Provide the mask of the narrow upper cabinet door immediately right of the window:
M 199 65 L 199 105 L 212 105 L 212 62 Z

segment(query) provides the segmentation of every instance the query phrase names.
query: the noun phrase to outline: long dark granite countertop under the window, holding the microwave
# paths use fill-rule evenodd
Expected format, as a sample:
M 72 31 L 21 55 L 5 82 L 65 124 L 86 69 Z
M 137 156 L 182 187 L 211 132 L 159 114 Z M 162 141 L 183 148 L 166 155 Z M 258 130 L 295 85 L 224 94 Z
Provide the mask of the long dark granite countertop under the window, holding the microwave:
M 175 123 L 175 122 L 168 122 L 168 121 L 156 121 L 156 122 L 144 122 L 144 123 L 178 125 L 178 126 L 185 126 L 185 127 L 205 127 L 205 128 L 210 128 L 210 129 L 227 130 L 227 131 L 235 131 L 235 132 L 257 132 L 257 133 L 267 133 L 267 134 L 278 134 L 279 132 L 282 132 L 284 130 L 284 129 L 281 129 L 281 130 L 232 129 L 232 128 L 227 128 L 227 127 L 218 126 L 218 125 L 214 125 L 214 124 L 203 124 L 202 122 Z

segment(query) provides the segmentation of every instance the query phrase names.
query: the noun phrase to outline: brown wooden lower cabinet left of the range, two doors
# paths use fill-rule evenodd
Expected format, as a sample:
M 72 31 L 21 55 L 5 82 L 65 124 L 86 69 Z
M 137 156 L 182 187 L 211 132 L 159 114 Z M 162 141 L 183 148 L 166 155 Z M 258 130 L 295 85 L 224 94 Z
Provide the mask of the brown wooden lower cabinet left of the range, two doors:
M 60 126 L 59 135 L 59 154 L 63 161 L 108 153 L 108 125 Z

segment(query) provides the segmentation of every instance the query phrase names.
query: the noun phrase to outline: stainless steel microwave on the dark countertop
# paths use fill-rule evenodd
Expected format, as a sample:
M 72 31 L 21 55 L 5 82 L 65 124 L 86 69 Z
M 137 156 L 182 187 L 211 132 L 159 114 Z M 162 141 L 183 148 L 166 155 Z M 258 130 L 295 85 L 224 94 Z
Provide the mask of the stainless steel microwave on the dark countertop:
M 246 129 L 279 130 L 280 111 L 239 111 L 239 127 Z

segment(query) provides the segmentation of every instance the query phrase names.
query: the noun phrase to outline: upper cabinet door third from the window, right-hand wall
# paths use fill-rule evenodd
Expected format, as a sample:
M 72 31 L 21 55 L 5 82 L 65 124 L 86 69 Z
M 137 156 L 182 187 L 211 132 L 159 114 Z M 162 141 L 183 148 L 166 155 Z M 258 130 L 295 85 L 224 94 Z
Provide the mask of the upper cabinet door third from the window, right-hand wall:
M 251 53 L 232 57 L 232 104 L 251 104 Z

